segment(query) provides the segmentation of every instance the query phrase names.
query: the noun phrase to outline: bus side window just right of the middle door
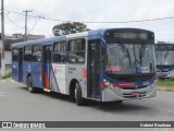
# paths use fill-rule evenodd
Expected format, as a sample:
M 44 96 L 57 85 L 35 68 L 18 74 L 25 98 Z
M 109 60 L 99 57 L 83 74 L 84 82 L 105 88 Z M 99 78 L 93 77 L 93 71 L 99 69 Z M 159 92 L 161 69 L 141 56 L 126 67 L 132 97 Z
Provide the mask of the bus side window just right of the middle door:
M 67 41 L 57 41 L 53 45 L 53 62 L 65 63 L 67 58 Z

